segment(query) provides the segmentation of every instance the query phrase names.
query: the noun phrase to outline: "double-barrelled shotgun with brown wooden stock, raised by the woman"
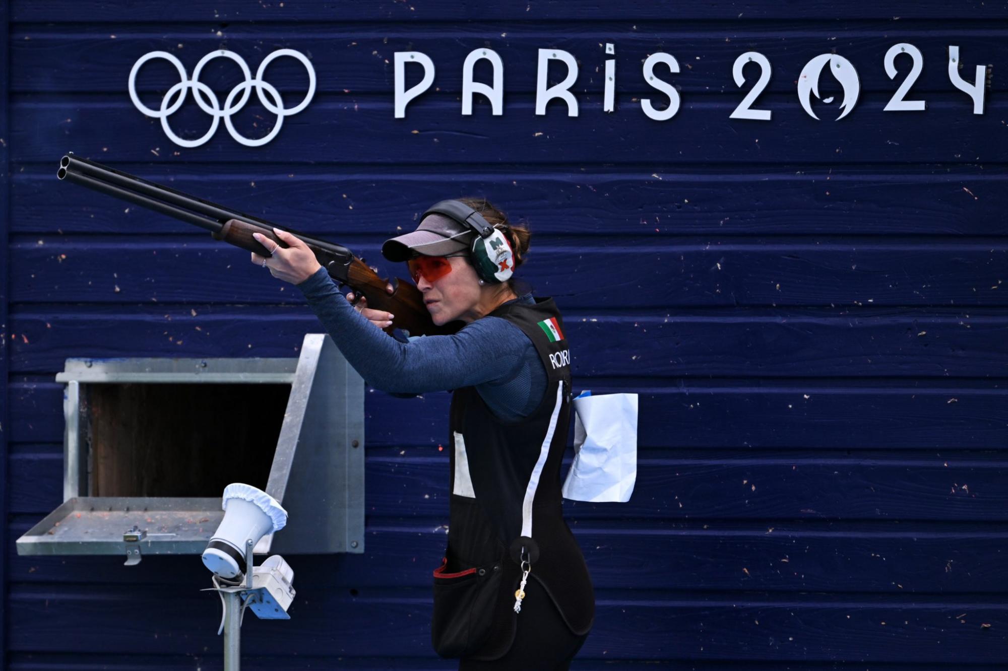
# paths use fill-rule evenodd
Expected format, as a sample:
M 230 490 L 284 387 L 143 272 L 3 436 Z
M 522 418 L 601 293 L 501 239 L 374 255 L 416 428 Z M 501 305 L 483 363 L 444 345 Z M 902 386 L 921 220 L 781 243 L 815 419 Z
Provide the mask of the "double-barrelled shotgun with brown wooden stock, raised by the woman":
M 394 291 L 388 293 L 385 287 L 389 280 L 379 277 L 364 259 L 355 256 L 342 245 L 308 237 L 259 217 L 80 158 L 73 152 L 59 160 L 56 176 L 199 226 L 210 231 L 215 240 L 223 240 L 260 256 L 269 256 L 269 252 L 252 237 L 253 233 L 266 236 L 283 249 L 287 245 L 273 234 L 274 227 L 297 236 L 314 253 L 316 259 L 338 285 L 347 285 L 357 296 L 364 296 L 368 307 L 395 315 L 392 325 L 384 329 L 389 334 L 394 328 L 401 328 L 410 336 L 443 336 L 454 333 L 463 325 L 461 321 L 451 321 L 440 326 L 434 324 L 423 304 L 423 295 L 415 285 L 396 278 L 391 281 Z

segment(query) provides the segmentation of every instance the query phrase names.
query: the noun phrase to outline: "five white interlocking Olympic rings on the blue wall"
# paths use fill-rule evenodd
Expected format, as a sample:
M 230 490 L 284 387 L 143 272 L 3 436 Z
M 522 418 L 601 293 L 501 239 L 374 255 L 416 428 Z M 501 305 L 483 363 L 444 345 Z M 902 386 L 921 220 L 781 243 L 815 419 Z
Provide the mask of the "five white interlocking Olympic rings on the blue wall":
M 262 74 L 266 72 L 266 65 L 273 61 L 274 58 L 279 58 L 280 56 L 292 56 L 301 61 L 304 69 L 308 72 L 308 93 L 304 96 L 304 100 L 300 102 L 297 107 L 286 109 L 283 107 L 283 101 L 280 99 L 280 92 L 276 90 L 275 87 L 264 82 L 262 79 Z M 140 102 L 140 98 L 136 94 L 136 74 L 140 72 L 140 68 L 153 58 L 164 58 L 178 71 L 178 77 L 181 80 L 178 84 L 172 86 L 168 89 L 168 92 L 164 94 L 164 98 L 161 99 L 161 108 L 159 110 L 152 110 L 146 107 Z M 242 74 L 245 75 L 245 81 L 236 86 L 228 94 L 227 100 L 224 101 L 224 109 L 221 109 L 220 101 L 217 96 L 206 84 L 200 81 L 200 73 L 203 72 L 204 65 L 213 60 L 214 58 L 231 58 L 238 63 L 238 66 L 242 69 Z M 133 101 L 133 105 L 136 109 L 140 110 L 144 115 L 152 117 L 154 119 L 161 120 L 161 128 L 164 129 L 164 134 L 181 147 L 199 147 L 204 144 L 214 133 L 217 132 L 218 126 L 221 124 L 221 118 L 224 118 L 224 124 L 228 128 L 228 132 L 231 133 L 231 137 L 235 138 L 238 142 L 244 144 L 246 147 L 260 147 L 274 137 L 280 132 L 280 128 L 283 126 L 283 118 L 288 117 L 292 114 L 297 114 L 311 102 L 312 96 L 314 96 L 316 88 L 316 77 L 314 69 L 311 68 L 311 62 L 304 56 L 300 51 L 295 51 L 294 49 L 277 49 L 273 51 L 265 58 L 263 58 L 262 63 L 259 65 L 259 70 L 255 74 L 255 79 L 252 79 L 251 71 L 245 60 L 235 53 L 234 51 L 228 51 L 227 49 L 219 49 L 217 51 L 211 51 L 197 63 L 196 70 L 193 71 L 193 79 L 190 80 L 185 74 L 185 68 L 178 58 L 167 51 L 151 51 L 150 53 L 145 53 L 140 56 L 140 58 L 133 63 L 133 70 L 129 73 L 129 97 Z M 197 140 L 183 140 L 182 138 L 175 135 L 171 128 L 168 126 L 168 117 L 178 111 L 178 108 L 182 106 L 185 102 L 185 94 L 188 90 L 193 90 L 193 97 L 196 99 L 197 105 L 200 109 L 207 114 L 214 117 L 214 121 L 210 126 L 210 130 L 207 133 L 197 139 Z M 234 124 L 231 123 L 231 116 L 236 112 L 240 111 L 249 100 L 249 96 L 252 94 L 252 89 L 255 89 L 256 96 L 259 97 L 259 102 L 265 107 L 271 114 L 276 115 L 276 125 L 273 126 L 271 130 L 265 137 L 261 137 L 256 140 L 251 140 L 241 133 L 235 130 Z M 263 95 L 265 92 L 265 95 Z M 235 98 L 241 95 L 241 100 L 235 103 Z M 206 98 L 205 98 L 206 96 Z M 175 98 L 177 97 L 177 98 Z M 174 102 L 171 102 L 172 98 L 175 98 Z M 270 100 L 271 99 L 271 100 Z

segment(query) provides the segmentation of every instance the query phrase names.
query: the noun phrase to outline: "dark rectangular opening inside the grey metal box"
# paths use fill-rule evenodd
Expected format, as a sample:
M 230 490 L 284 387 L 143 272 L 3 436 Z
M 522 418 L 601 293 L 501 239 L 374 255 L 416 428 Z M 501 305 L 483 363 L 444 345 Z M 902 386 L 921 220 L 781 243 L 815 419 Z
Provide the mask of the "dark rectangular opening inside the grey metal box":
M 81 437 L 94 497 L 215 497 L 266 489 L 289 384 L 94 384 Z

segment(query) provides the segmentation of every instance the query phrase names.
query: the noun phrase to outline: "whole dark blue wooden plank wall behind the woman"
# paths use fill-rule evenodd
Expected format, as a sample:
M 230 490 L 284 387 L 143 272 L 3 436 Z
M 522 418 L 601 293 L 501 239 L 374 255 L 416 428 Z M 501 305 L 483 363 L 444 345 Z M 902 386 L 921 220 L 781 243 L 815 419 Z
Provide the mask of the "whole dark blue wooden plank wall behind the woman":
M 68 150 L 370 260 L 443 197 L 486 194 L 529 223 L 523 273 L 563 310 L 577 389 L 640 394 L 631 502 L 565 504 L 598 596 L 575 668 L 1004 668 L 1005 2 L 0 7 L 6 668 L 220 665 L 219 606 L 199 591 L 208 576 L 195 557 L 128 569 L 118 557 L 16 556 L 14 540 L 61 501 L 64 360 L 295 356 L 320 328 L 247 253 L 57 183 Z M 883 56 L 900 41 L 923 53 L 910 98 L 926 112 L 882 112 L 897 86 Z M 602 111 L 605 42 L 616 45 L 613 114 Z M 967 79 L 993 64 L 983 115 L 949 83 L 950 44 Z M 463 117 L 462 62 L 484 45 L 505 62 L 505 113 L 477 98 Z M 298 49 L 319 92 L 262 148 L 223 128 L 176 147 L 130 103 L 129 70 L 163 49 L 192 73 L 222 47 L 253 70 Z M 534 115 L 539 47 L 581 61 L 578 118 L 556 103 Z M 410 49 L 434 60 L 438 90 L 396 120 L 393 53 Z M 682 96 L 662 123 L 638 103 L 661 106 L 640 74 L 659 50 L 681 65 L 660 71 Z M 771 122 L 729 119 L 746 50 L 773 65 L 757 104 Z M 861 98 L 848 118 L 832 121 L 834 106 L 816 122 L 795 81 L 831 50 L 858 68 Z M 218 60 L 201 79 L 220 95 L 236 77 Z M 268 80 L 288 101 L 306 83 L 287 59 Z M 156 105 L 176 80 L 161 62 L 140 81 Z M 258 136 L 273 119 L 236 122 Z M 186 137 L 209 121 L 192 104 L 172 118 Z M 367 551 L 292 557 L 293 619 L 245 622 L 246 668 L 454 668 L 428 645 L 448 400 L 368 395 Z

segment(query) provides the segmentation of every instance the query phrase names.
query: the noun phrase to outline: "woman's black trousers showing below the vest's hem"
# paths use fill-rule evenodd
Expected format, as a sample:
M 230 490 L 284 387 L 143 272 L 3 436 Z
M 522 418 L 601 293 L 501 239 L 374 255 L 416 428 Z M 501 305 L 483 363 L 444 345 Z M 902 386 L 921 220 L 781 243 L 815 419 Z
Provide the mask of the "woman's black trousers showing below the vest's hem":
M 565 671 L 587 638 L 573 634 L 542 585 L 529 580 L 511 649 L 492 662 L 460 660 L 459 671 Z

